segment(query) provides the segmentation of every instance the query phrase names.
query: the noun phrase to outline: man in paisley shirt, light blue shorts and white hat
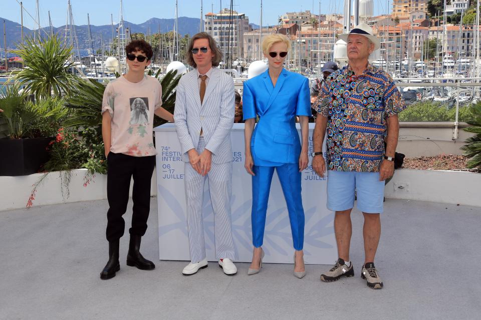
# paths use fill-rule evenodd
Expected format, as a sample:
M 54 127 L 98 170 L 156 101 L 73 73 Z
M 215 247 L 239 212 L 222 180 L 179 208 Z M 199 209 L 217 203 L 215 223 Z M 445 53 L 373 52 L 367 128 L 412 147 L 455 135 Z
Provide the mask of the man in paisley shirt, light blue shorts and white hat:
M 354 275 L 349 259 L 350 214 L 357 194 L 357 208 L 364 215 L 365 261 L 361 277 L 369 287 L 378 289 L 383 282 L 374 266 L 374 256 L 381 234 L 384 180 L 394 172 L 399 136 L 397 113 L 406 106 L 391 77 L 368 62 L 369 54 L 380 47 L 372 28 L 360 23 L 339 37 L 347 42 L 348 64 L 323 82 L 313 106 L 318 116 L 312 165 L 321 176 L 329 170 L 327 206 L 336 211 L 334 231 L 338 247 L 336 264 L 321 275 L 321 280 L 330 282 Z M 326 132 L 325 160 L 322 142 Z

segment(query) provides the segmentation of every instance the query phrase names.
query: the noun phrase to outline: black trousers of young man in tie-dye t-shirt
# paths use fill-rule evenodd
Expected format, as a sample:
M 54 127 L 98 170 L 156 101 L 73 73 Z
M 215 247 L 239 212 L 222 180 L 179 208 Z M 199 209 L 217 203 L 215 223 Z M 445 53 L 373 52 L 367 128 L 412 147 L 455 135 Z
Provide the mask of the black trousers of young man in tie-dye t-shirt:
M 150 211 L 150 181 L 155 166 L 155 155 L 131 156 L 110 152 L 107 156 L 107 240 L 119 239 L 124 235 L 125 221 L 122 215 L 129 201 L 130 179 L 132 188 L 132 227 L 130 234 L 144 235 Z

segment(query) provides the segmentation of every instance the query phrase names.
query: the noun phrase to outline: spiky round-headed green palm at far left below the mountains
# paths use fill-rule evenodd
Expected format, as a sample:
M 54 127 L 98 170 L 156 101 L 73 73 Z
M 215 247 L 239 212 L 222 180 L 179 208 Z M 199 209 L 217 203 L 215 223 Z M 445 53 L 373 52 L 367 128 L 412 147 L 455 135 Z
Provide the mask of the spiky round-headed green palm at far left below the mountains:
M 62 44 L 57 35 L 41 38 L 36 42 L 27 38 L 20 48 L 13 51 L 20 55 L 25 68 L 12 72 L 21 85 L 37 98 L 70 95 L 79 77 L 71 73 L 72 46 Z

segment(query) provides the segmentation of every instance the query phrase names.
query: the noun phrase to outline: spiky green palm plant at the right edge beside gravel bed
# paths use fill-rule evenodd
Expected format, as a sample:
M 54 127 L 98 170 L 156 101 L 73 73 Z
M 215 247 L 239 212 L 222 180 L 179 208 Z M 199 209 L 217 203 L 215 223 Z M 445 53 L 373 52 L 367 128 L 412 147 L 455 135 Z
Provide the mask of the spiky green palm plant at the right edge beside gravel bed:
M 464 128 L 464 131 L 475 134 L 465 140 L 467 144 L 461 146 L 461 149 L 464 150 L 463 154 L 469 157 L 466 166 L 481 170 L 481 103 L 473 106 L 473 114 L 474 120 L 467 121 L 471 126 Z

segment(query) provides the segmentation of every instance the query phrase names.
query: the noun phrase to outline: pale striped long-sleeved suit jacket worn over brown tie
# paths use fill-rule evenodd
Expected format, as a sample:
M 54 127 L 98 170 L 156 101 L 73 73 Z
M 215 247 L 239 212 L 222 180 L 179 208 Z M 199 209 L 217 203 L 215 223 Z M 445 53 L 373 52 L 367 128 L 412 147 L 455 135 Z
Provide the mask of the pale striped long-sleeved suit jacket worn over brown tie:
M 225 72 L 212 67 L 202 104 L 197 70 L 182 75 L 176 87 L 174 121 L 184 162 L 189 161 L 186 152 L 197 148 L 201 128 L 205 148 L 212 152 L 212 162 L 232 161 L 230 129 L 234 108 L 234 82 Z

